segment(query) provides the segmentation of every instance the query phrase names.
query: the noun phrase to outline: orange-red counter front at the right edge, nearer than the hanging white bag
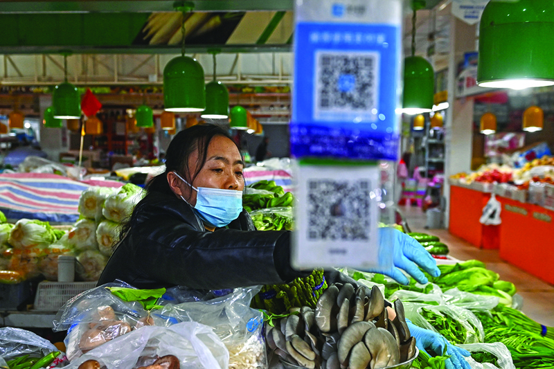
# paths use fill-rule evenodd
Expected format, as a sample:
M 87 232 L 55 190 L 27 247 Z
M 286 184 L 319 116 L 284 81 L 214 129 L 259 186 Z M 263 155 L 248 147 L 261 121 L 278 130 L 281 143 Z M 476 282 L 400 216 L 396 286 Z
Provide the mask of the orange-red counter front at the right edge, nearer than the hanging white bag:
M 554 212 L 497 197 L 502 204 L 500 258 L 554 284 Z

